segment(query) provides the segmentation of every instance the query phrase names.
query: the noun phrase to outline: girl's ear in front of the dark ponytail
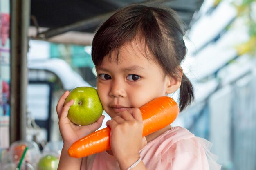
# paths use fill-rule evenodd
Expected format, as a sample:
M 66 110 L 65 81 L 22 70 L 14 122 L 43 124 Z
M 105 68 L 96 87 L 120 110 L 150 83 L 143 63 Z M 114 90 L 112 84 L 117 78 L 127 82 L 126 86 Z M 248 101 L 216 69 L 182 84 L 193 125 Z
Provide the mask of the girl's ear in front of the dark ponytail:
M 179 66 L 178 67 L 178 72 L 177 72 L 178 78 L 173 78 L 172 76 L 166 76 L 166 93 L 174 93 L 177 89 L 180 88 L 181 85 L 181 80 L 182 80 L 182 75 L 183 75 L 183 70 Z

